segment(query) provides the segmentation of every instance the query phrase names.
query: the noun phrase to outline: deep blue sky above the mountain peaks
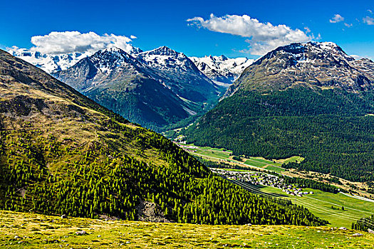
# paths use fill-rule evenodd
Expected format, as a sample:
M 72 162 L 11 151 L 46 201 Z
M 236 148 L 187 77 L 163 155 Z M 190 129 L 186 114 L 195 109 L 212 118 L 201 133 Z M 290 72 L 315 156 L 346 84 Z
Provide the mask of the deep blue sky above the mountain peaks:
M 261 51 L 288 41 L 281 36 L 289 30 L 292 37 L 298 33 L 290 41 L 305 37 L 316 40 L 320 35 L 318 41 L 338 43 L 348 54 L 374 58 L 374 15 L 368 10 L 374 11 L 374 1 L 1 0 L 0 46 L 31 48 L 32 36 L 51 31 L 93 31 L 100 36 L 136 36 L 131 43 L 142 50 L 169 46 L 189 56 L 257 58 Z M 334 19 L 336 14 L 339 16 Z M 248 26 L 238 30 L 235 23 L 243 21 L 244 15 L 250 16 L 246 18 Z M 187 21 L 192 18 L 194 21 Z M 229 19 L 232 23 L 227 23 Z M 254 19 L 262 24 L 251 26 L 256 23 Z M 266 23 L 273 26 L 271 37 L 251 29 L 264 28 L 267 32 Z M 279 38 L 275 37 L 278 31 Z M 264 48 L 259 51 L 256 46 Z

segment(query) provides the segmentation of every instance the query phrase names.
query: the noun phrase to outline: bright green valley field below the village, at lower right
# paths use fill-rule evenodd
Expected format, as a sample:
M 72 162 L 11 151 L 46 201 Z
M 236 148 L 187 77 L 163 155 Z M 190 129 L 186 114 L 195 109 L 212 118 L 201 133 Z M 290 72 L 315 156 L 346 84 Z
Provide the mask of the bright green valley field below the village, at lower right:
M 293 203 L 308 208 L 319 218 L 326 219 L 333 227 L 345 226 L 350 228 L 351 223 L 357 221 L 359 218 L 368 217 L 374 213 L 373 202 L 359 200 L 341 193 L 332 194 L 316 189 L 303 189 L 305 191 L 313 191 L 314 194 L 298 197 L 285 194 L 281 189 L 271 186 L 253 186 L 245 184 L 244 187 L 247 187 L 249 191 L 256 194 L 265 194 L 276 198 L 287 198 Z M 344 207 L 344 211 L 342 207 Z

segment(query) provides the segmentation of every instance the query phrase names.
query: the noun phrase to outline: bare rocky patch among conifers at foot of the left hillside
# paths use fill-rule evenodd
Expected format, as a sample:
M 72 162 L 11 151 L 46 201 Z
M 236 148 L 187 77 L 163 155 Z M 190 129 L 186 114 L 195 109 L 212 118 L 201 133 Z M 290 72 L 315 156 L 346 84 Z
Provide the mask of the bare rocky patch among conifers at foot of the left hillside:
M 139 221 L 172 222 L 165 218 L 164 213 L 162 213 L 161 208 L 156 203 L 141 200 L 136 208 Z

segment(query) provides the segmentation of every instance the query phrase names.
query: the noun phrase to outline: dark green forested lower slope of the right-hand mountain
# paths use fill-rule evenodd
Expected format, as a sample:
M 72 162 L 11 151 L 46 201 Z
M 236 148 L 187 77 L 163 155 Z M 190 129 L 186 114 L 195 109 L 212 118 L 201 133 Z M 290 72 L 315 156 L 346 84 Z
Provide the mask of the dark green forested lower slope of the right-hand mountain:
M 373 92 L 291 88 L 239 91 L 183 133 L 187 142 L 266 159 L 304 157 L 289 167 L 374 181 Z

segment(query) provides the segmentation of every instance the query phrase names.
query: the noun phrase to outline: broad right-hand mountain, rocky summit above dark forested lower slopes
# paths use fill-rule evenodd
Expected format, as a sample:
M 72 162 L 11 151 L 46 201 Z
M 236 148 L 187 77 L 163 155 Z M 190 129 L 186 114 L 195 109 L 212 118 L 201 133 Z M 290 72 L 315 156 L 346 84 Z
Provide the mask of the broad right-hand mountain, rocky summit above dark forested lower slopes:
M 373 61 L 335 43 L 276 48 L 185 131 L 187 142 L 268 159 L 301 155 L 287 166 L 374 181 L 373 75 Z

